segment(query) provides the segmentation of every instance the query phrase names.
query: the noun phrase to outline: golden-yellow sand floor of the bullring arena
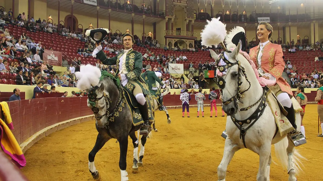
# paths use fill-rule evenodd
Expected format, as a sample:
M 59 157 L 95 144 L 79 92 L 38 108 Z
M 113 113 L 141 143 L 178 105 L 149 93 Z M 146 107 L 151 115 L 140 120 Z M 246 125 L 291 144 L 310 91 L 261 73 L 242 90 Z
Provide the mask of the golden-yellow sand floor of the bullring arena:
M 220 136 L 225 128 L 226 117 L 210 118 L 206 107 L 205 118 L 196 118 L 196 108 L 191 117 L 182 118 L 182 109 L 169 110 L 172 124 L 167 124 L 164 112 L 156 112 L 153 138 L 145 145 L 143 167 L 132 173 L 133 146 L 129 138 L 127 171 L 129 180 L 217 180 L 217 166 L 223 150 L 224 139 Z M 220 110 L 221 116 L 221 108 Z M 88 154 L 94 146 L 97 131 L 95 121 L 73 125 L 39 140 L 25 153 L 27 166 L 23 173 L 31 181 L 88 181 L 93 180 L 88 169 Z M 323 138 L 317 137 L 317 105 L 307 105 L 304 118 L 307 144 L 298 147 L 307 158 L 298 181 L 322 180 Z M 95 157 L 95 166 L 101 180 L 120 180 L 119 143 L 109 140 Z M 278 163 L 272 146 L 273 161 Z M 241 149 L 228 166 L 226 180 L 255 181 L 259 157 L 248 149 Z M 271 164 L 270 180 L 288 180 L 286 169 L 278 163 Z

